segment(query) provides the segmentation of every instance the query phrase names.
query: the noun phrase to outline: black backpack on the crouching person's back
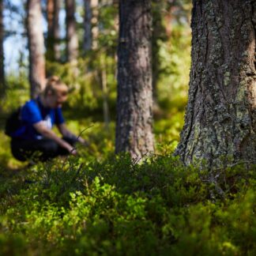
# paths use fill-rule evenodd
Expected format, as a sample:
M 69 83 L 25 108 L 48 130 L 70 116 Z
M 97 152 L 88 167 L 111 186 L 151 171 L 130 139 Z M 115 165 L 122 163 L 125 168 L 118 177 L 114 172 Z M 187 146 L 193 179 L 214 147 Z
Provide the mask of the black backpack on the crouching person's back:
M 15 132 L 19 130 L 21 126 L 22 126 L 21 107 L 18 107 L 6 119 L 5 134 L 9 137 L 13 137 Z

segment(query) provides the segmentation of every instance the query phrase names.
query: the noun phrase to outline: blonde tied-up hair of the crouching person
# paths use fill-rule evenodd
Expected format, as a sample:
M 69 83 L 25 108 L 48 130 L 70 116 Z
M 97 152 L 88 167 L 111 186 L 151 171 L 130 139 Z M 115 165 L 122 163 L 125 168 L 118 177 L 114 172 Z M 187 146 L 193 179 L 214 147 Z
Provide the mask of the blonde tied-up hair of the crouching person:
M 49 92 L 52 94 L 56 94 L 57 92 L 67 94 L 69 92 L 69 88 L 60 80 L 59 77 L 51 76 L 47 78 L 47 83 L 43 90 L 43 96 L 47 96 Z

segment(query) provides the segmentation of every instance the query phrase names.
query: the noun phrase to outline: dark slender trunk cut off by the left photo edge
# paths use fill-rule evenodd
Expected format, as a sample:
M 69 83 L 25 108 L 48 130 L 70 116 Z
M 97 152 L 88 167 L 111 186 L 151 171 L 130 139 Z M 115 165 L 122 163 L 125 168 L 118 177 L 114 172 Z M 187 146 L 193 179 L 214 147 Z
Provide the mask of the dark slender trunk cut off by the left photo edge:
M 6 94 L 6 79 L 5 79 L 5 65 L 4 65 L 4 26 L 3 26 L 3 0 L 0 0 L 0 98 Z

